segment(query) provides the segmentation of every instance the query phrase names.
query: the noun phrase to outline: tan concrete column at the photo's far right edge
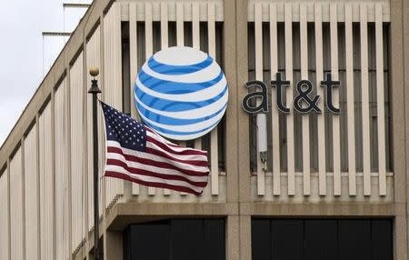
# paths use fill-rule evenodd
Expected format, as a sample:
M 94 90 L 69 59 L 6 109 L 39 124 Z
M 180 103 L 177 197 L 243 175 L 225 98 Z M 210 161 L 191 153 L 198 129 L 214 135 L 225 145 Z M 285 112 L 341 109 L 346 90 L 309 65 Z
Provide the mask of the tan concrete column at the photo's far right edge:
M 391 31 L 390 31 L 390 68 L 391 68 L 391 97 L 392 97 L 392 136 L 394 155 L 394 203 L 396 208 L 402 207 L 404 213 L 394 218 L 394 259 L 407 259 L 408 232 L 407 232 L 407 145 L 405 137 L 405 122 L 408 113 L 405 112 L 405 88 L 409 86 L 404 80 L 404 29 L 408 25 L 404 22 L 404 15 L 409 15 L 404 10 L 406 0 L 391 0 Z M 407 32 L 406 32 L 407 34 Z M 406 51 L 407 55 L 407 51 Z

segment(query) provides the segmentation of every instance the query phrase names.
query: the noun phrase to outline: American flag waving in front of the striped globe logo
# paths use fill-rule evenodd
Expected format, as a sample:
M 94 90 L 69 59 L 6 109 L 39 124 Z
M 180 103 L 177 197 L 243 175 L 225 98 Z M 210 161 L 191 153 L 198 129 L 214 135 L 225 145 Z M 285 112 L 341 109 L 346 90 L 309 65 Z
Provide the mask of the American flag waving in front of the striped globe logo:
M 140 185 L 202 194 L 207 152 L 175 145 L 146 125 L 101 102 L 105 117 L 105 176 Z

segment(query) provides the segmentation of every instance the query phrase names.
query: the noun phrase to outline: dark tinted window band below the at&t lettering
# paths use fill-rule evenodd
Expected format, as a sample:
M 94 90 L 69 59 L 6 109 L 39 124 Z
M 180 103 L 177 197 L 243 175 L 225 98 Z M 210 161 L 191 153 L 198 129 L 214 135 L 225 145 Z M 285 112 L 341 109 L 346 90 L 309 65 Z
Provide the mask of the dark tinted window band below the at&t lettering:
M 253 260 L 393 259 L 390 219 L 253 219 Z

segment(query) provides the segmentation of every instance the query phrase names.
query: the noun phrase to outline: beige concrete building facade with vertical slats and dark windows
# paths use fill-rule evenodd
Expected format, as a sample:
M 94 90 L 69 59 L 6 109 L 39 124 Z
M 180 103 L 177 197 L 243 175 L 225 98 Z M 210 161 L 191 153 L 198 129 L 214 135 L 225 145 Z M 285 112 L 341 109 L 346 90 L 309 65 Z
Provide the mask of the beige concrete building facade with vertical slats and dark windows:
M 175 45 L 213 56 L 229 85 L 221 123 L 182 143 L 209 152 L 209 185 L 195 196 L 103 177 L 100 149 L 105 259 L 408 258 L 408 1 L 98 0 L 0 149 L 0 259 L 94 259 L 89 67 L 99 98 L 138 118 L 139 68 Z M 265 165 L 242 108 L 252 80 L 268 85 Z M 322 113 L 294 110 L 301 80 Z

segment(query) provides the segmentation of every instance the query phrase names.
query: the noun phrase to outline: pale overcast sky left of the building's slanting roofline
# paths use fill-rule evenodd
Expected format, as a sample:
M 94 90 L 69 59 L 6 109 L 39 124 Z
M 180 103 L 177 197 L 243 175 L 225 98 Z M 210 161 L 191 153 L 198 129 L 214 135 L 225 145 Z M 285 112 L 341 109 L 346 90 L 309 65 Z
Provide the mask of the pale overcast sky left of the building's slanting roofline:
M 64 10 L 63 3 L 91 2 L 0 0 L 0 145 L 65 45 L 65 38 L 43 39 L 42 32 L 73 31 L 86 10 Z

